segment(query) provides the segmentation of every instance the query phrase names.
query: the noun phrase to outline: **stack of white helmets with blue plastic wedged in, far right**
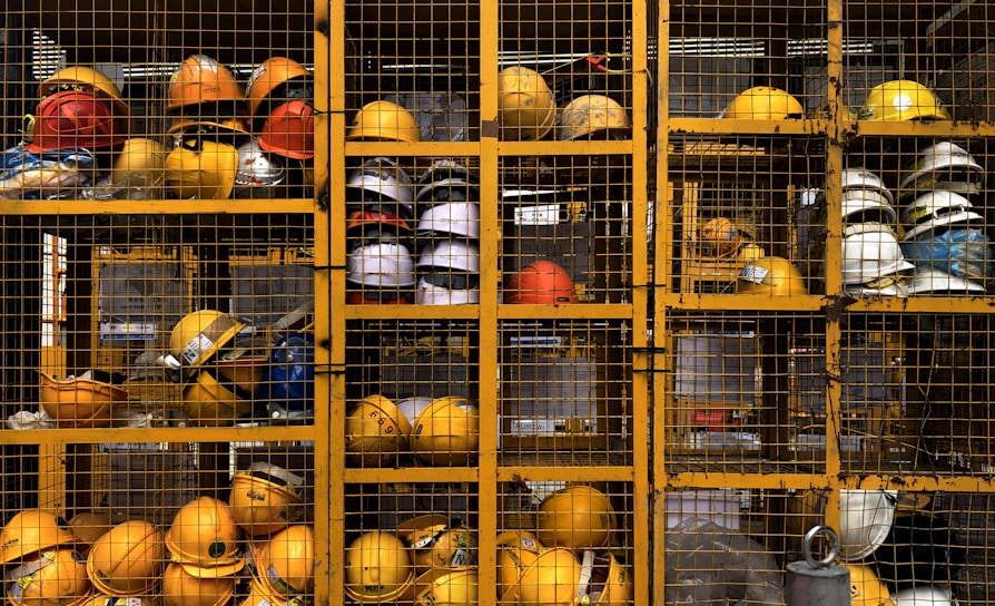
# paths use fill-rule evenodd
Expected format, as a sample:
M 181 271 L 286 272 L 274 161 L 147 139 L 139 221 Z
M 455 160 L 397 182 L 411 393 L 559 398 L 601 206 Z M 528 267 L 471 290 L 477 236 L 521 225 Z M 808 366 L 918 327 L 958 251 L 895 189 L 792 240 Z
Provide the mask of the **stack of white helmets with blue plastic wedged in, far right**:
M 963 147 L 932 145 L 900 175 L 902 251 L 915 264 L 910 294 L 983 295 L 993 251 L 984 217 L 972 198 L 982 192 L 984 167 Z

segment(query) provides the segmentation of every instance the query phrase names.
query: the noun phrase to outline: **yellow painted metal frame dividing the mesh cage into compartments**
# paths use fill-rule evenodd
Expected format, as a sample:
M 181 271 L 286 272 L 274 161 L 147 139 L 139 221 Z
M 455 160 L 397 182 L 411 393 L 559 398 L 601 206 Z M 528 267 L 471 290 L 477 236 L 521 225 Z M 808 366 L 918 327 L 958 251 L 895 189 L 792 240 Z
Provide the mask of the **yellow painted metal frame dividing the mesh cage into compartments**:
M 790 2 L 789 2 L 790 3 Z M 88 444 L 108 441 L 152 442 L 247 442 L 247 441 L 301 441 L 314 443 L 314 508 L 322 512 L 315 525 L 318 574 L 316 575 L 315 603 L 343 604 L 344 570 L 341 555 L 345 549 L 346 514 L 343 495 L 346 485 L 382 485 L 405 482 L 466 482 L 477 487 L 477 501 L 482 512 L 512 515 L 502 502 L 505 482 L 528 478 L 536 481 L 629 482 L 632 486 L 632 528 L 638 538 L 632 550 L 632 571 L 636 579 L 637 605 L 659 604 L 664 586 L 666 493 L 676 489 L 720 489 L 748 487 L 776 491 L 817 490 L 827 495 L 825 519 L 838 519 L 838 495 L 841 489 L 902 488 L 904 490 L 944 490 L 952 492 L 995 491 L 995 478 L 981 476 L 896 476 L 879 473 L 847 473 L 844 469 L 839 444 L 827 440 L 824 468 L 818 472 L 762 473 L 757 471 L 716 471 L 693 466 L 674 465 L 680 452 L 664 444 L 672 444 L 673 428 L 673 370 L 674 348 L 671 334 L 679 312 L 746 311 L 751 313 L 797 313 L 825 320 L 825 370 L 828 377 L 839 377 L 839 343 L 843 328 L 838 314 L 841 283 L 839 272 L 828 271 L 826 295 L 806 295 L 788 301 L 771 300 L 759 295 L 730 299 L 720 294 L 674 292 L 671 287 L 671 251 L 673 251 L 674 202 L 669 178 L 669 159 L 672 138 L 678 134 L 743 134 L 743 135 L 807 135 L 825 136 L 826 172 L 839 174 L 844 168 L 843 144 L 859 130 L 863 135 L 922 135 L 922 136 L 995 136 L 995 127 L 985 123 L 967 124 L 866 124 L 854 123 L 844 113 L 838 88 L 829 87 L 829 118 L 819 120 L 791 120 L 787 123 L 748 120 L 670 118 L 669 50 L 671 4 L 632 4 L 632 138 L 624 141 L 578 141 L 564 145 L 559 141 L 515 143 L 500 141 L 496 137 L 497 117 L 497 63 L 501 3 L 483 0 L 480 3 L 480 65 L 481 65 L 481 139 L 473 143 L 354 143 L 345 140 L 347 123 L 346 47 L 348 36 L 344 28 L 345 0 L 318 0 L 315 7 L 315 175 L 314 199 L 254 201 L 254 212 L 306 213 L 314 216 L 315 228 L 315 419 L 306 427 L 224 427 L 224 428 L 147 428 L 140 434 L 132 429 L 62 429 L 58 433 L 45 430 L 4 432 L 4 444 L 41 444 L 42 453 L 65 452 L 61 444 Z M 718 4 L 721 4 L 719 2 Z M 841 81 L 844 77 L 844 2 L 827 0 L 826 39 L 828 41 L 828 79 Z M 656 18 L 656 22 L 649 22 Z M 651 69 L 650 30 L 657 31 L 657 63 Z M 656 98 L 650 95 L 656 91 Z M 651 110 L 657 119 L 649 124 Z M 859 127 L 859 128 L 858 128 Z M 654 134 L 654 138 L 650 138 Z M 630 265 L 631 297 L 623 303 L 597 303 L 574 305 L 569 309 L 532 305 L 501 305 L 499 284 L 501 272 L 499 256 L 501 226 L 499 222 L 499 170 L 501 160 L 513 156 L 549 155 L 583 156 L 617 154 L 631 163 L 632 188 L 631 222 L 632 250 Z M 347 306 L 346 247 L 345 247 L 345 185 L 338 176 L 346 173 L 347 159 L 373 156 L 459 156 L 472 158 L 479 166 L 481 179 L 481 295 L 480 303 L 460 307 L 405 307 Z M 335 177 L 333 177 L 335 176 Z M 652 187 L 650 188 L 650 185 Z M 640 185 L 647 185 L 641 187 Z M 841 225 L 840 187 L 835 179 L 826 186 L 829 203 L 826 266 L 839 267 Z M 119 201 L 116 214 L 174 214 L 231 213 L 228 201 L 198 201 L 196 203 L 164 203 Z M 105 202 L 47 201 L 6 202 L 3 214 L 59 215 L 106 214 Z M 642 217 L 651 216 L 648 226 Z M 650 229 L 652 242 L 650 240 Z M 677 243 L 680 244 L 680 243 Z M 652 247 L 651 247 L 652 245 Z M 652 256 L 650 256 L 652 255 Z M 280 261 L 287 260 L 280 257 Z M 293 260 L 292 260 L 293 262 Z M 723 266 L 723 277 L 730 267 Z M 96 274 L 95 274 L 96 275 Z M 96 309 L 96 300 L 95 305 Z M 991 314 L 989 301 L 948 300 L 863 300 L 848 303 L 850 312 L 870 313 L 972 313 Z M 497 437 L 501 427 L 496 414 L 482 414 L 480 424 L 480 458 L 475 467 L 414 468 L 414 469 L 353 469 L 345 465 L 346 453 L 346 334 L 348 322 L 356 320 L 469 320 L 479 333 L 480 393 L 482 411 L 500 408 L 499 366 L 501 363 L 501 323 L 515 320 L 613 320 L 624 322 L 631 331 L 631 377 L 627 378 L 631 390 L 631 461 L 624 465 L 582 465 L 561 467 L 555 465 L 505 465 L 499 456 Z M 843 424 L 840 411 L 840 383 L 828 381 L 826 387 L 826 433 L 838 434 Z M 643 440 L 642 438 L 647 439 Z M 58 487 L 65 482 L 66 469 L 58 456 L 43 456 L 46 481 L 40 490 L 42 502 L 56 508 L 65 507 L 63 495 Z M 327 518 L 324 512 L 327 511 Z M 523 512 L 522 515 L 528 515 Z M 480 517 L 480 584 L 496 585 L 495 536 L 501 516 Z M 647 539 L 650 546 L 642 543 Z M 650 540 L 652 539 L 652 540 Z M 649 547 L 649 548 L 643 548 Z M 482 595 L 481 606 L 496 605 L 493 595 Z

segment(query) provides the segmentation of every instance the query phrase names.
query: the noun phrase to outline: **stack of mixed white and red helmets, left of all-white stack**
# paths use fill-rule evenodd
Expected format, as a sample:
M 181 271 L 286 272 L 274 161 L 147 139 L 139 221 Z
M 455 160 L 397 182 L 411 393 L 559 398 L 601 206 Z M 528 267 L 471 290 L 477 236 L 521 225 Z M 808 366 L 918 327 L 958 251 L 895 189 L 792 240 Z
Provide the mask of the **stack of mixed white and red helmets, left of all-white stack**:
M 346 182 L 346 302 L 412 303 L 414 185 L 388 158 L 371 158 Z

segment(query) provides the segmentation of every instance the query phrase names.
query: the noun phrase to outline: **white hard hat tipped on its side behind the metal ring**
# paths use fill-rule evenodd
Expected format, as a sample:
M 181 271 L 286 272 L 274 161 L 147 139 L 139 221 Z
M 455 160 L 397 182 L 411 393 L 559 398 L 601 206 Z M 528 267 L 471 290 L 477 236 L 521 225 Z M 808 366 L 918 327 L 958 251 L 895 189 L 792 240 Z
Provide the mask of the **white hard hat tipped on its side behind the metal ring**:
M 839 491 L 839 558 L 856 561 L 881 546 L 898 505 L 897 490 Z

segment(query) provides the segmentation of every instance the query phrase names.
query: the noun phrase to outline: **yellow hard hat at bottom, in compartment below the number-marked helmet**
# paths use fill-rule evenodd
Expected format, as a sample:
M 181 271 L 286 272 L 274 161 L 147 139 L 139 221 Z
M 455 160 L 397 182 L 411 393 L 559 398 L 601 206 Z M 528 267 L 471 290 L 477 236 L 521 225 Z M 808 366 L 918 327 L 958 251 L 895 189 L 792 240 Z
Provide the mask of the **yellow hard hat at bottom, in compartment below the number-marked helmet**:
M 345 549 L 345 594 L 363 604 L 383 604 L 411 597 L 414 567 L 396 535 L 364 532 Z

